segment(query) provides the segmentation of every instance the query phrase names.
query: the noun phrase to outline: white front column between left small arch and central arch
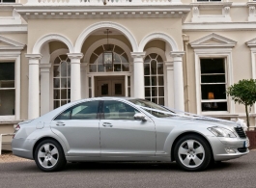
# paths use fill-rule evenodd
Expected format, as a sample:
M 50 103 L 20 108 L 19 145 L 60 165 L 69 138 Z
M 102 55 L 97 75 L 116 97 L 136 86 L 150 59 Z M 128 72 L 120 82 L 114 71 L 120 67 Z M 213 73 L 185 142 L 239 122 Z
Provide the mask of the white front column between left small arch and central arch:
M 81 99 L 81 67 L 82 53 L 69 53 L 71 59 L 71 101 Z

